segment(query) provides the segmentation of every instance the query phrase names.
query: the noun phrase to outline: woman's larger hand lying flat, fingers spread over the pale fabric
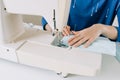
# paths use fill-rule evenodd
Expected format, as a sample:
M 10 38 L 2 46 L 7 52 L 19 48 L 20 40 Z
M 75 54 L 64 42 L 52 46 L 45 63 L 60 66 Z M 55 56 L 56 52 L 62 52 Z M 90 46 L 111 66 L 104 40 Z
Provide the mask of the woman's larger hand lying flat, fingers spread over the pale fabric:
M 72 32 L 74 37 L 69 39 L 69 45 L 78 47 L 81 44 L 84 44 L 84 47 L 88 47 L 102 34 L 102 27 L 101 24 L 94 24 L 93 26 L 84 30 Z

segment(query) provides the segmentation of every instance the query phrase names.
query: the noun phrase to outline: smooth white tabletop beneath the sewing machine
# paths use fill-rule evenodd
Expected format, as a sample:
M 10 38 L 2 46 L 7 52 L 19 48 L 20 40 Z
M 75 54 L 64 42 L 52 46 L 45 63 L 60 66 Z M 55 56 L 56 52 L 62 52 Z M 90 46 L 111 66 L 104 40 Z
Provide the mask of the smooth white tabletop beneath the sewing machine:
M 97 76 L 69 75 L 62 78 L 53 71 L 0 59 L 0 80 L 120 80 L 120 63 L 112 56 L 103 55 L 102 69 Z

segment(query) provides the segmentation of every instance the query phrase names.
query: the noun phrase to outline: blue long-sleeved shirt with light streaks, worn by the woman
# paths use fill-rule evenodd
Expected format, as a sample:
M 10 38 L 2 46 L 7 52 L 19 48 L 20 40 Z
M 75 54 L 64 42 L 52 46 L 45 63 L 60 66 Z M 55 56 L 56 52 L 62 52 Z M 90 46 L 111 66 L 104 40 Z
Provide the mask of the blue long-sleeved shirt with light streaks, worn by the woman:
M 116 15 L 119 22 L 116 41 L 120 42 L 120 0 L 72 0 L 68 25 L 75 31 L 97 23 L 112 25 Z M 42 25 L 46 24 L 47 21 L 42 18 Z

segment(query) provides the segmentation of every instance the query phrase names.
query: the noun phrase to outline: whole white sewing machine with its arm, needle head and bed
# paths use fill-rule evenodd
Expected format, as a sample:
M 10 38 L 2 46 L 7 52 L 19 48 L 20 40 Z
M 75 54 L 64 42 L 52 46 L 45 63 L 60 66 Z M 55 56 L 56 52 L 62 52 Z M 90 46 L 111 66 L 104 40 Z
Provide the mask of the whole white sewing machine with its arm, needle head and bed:
M 58 28 L 58 32 L 67 25 L 71 0 L 47 2 L 0 0 L 0 58 L 53 70 L 64 77 L 67 74 L 95 76 L 101 68 L 101 54 L 51 45 L 56 36 L 23 27 L 22 14 L 42 15 L 52 28 Z

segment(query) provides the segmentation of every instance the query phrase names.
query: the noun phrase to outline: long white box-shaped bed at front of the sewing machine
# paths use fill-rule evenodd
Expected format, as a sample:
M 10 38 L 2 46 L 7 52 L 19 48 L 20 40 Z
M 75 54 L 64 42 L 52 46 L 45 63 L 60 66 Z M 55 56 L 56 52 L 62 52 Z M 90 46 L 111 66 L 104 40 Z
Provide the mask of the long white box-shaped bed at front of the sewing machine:
M 102 56 L 79 49 L 64 49 L 26 42 L 17 50 L 19 63 L 66 74 L 95 76 L 101 68 Z

